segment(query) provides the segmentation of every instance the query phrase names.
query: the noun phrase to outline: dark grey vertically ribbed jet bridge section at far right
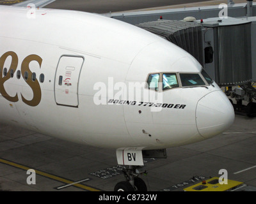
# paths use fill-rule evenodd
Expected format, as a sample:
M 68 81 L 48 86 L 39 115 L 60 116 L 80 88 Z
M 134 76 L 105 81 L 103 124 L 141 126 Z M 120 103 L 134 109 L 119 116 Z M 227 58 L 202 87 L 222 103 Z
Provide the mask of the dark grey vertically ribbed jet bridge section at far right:
M 217 31 L 215 52 L 216 82 L 241 85 L 252 82 L 251 23 L 221 25 Z

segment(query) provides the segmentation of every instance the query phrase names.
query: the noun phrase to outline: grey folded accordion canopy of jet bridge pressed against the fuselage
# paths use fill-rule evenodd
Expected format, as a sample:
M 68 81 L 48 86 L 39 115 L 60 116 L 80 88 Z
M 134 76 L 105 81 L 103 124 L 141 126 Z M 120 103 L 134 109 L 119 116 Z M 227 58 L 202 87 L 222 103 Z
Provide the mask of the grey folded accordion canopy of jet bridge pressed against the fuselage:
M 137 25 L 142 29 L 157 34 L 189 52 L 204 65 L 202 26 L 194 22 L 180 20 L 157 20 Z

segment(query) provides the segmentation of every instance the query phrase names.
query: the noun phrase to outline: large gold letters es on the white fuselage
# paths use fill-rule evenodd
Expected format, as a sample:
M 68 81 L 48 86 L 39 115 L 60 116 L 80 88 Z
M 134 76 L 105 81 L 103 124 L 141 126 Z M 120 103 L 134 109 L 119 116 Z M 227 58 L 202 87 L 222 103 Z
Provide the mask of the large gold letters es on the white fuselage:
M 12 62 L 10 65 L 10 68 L 8 70 L 8 73 L 6 75 L 3 75 L 3 70 L 4 70 L 4 62 L 6 61 L 7 57 L 11 56 L 12 57 Z M 42 98 L 42 92 L 40 88 L 40 84 L 37 79 L 35 81 L 32 80 L 32 72 L 29 69 L 29 63 L 32 61 L 38 62 L 40 68 L 42 64 L 42 58 L 39 57 L 38 55 L 29 55 L 26 57 L 21 64 L 21 74 L 22 77 L 24 78 L 25 82 L 31 87 L 33 91 L 33 98 L 29 101 L 24 96 L 21 94 L 22 101 L 26 103 L 29 106 L 37 106 Z M 10 96 L 4 89 L 4 82 L 9 80 L 11 78 L 11 70 L 13 70 L 13 73 L 15 73 L 16 69 L 18 67 L 18 56 L 15 54 L 15 52 L 6 52 L 0 57 L 0 93 L 2 96 L 7 99 L 8 101 L 11 102 L 17 102 L 19 101 L 18 94 L 16 93 L 15 96 Z M 28 73 L 28 78 L 25 79 L 25 72 Z

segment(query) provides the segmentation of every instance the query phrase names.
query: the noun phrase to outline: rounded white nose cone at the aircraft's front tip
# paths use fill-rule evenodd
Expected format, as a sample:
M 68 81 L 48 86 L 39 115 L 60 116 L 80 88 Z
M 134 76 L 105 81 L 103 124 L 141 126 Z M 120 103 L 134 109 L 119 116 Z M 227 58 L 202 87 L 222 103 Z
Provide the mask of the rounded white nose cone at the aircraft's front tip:
M 223 133 L 235 119 L 234 108 L 222 91 L 214 91 L 198 101 L 196 126 L 204 138 Z

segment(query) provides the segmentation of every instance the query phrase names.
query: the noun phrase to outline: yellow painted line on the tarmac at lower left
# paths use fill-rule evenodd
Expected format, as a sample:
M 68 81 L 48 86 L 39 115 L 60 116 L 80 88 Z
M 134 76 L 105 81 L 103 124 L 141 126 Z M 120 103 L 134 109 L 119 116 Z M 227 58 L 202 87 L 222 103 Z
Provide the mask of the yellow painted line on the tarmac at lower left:
M 7 160 L 1 159 L 1 158 L 0 158 L 0 163 L 8 164 L 10 166 L 14 166 L 16 168 L 20 168 L 22 170 L 33 169 L 33 168 L 28 167 L 28 166 L 23 166 L 21 164 L 13 163 L 12 161 L 7 161 Z M 35 170 L 35 169 L 33 169 L 33 170 Z M 76 186 L 76 187 L 79 187 L 81 189 L 85 189 L 86 191 L 100 191 L 99 189 L 95 189 L 95 188 L 90 187 L 90 186 L 85 186 L 83 184 L 76 184 L 76 182 L 74 183 L 74 181 L 72 181 L 72 180 L 63 179 L 61 177 L 58 177 L 56 175 L 51 175 L 51 174 L 45 173 L 43 171 L 35 170 L 35 172 L 36 172 L 37 175 L 41 175 L 41 176 L 47 177 L 49 179 L 57 180 L 59 182 L 65 183 L 65 184 L 72 184 L 72 186 Z

